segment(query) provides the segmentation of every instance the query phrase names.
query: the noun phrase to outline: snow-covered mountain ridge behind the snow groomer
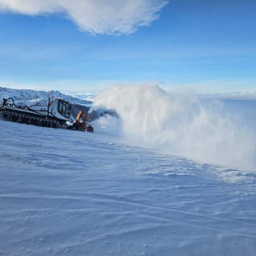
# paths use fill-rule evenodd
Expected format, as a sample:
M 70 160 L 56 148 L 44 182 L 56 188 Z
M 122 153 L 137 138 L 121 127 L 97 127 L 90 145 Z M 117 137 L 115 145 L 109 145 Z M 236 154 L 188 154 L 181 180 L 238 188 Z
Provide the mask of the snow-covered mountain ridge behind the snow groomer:
M 46 105 L 48 98 L 51 100 L 54 98 L 63 98 L 70 102 L 71 104 L 76 105 L 91 105 L 92 102 L 86 101 L 81 98 L 74 98 L 72 96 L 62 94 L 59 91 L 42 91 L 42 90 L 17 90 L 10 89 L 0 86 L 0 98 L 14 98 L 14 101 L 19 105 L 31 106 L 34 104 Z

